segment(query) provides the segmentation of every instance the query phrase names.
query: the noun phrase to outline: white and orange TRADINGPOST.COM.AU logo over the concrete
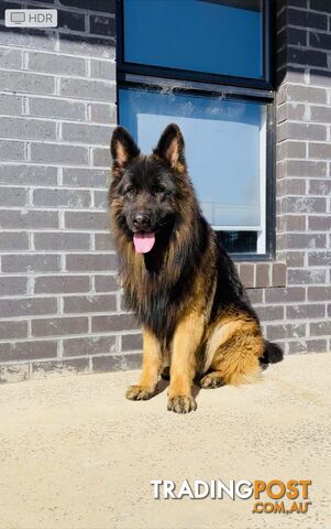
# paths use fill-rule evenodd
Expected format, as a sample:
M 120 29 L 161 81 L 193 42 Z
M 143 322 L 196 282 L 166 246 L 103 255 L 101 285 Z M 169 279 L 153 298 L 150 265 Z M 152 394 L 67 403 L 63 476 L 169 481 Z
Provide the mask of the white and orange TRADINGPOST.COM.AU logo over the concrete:
M 252 512 L 255 514 L 306 514 L 309 501 L 311 479 L 185 479 L 179 486 L 172 479 L 152 479 L 154 499 L 252 499 Z

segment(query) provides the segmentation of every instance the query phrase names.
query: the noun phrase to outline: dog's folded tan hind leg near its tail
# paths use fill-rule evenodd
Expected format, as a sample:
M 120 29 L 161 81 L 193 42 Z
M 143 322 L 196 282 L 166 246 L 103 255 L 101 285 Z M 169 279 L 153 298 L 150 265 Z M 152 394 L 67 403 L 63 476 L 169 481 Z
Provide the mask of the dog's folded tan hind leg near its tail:
M 253 320 L 228 321 L 216 326 L 207 343 L 202 388 L 217 388 L 225 384 L 258 381 L 258 358 L 264 341 L 258 324 Z

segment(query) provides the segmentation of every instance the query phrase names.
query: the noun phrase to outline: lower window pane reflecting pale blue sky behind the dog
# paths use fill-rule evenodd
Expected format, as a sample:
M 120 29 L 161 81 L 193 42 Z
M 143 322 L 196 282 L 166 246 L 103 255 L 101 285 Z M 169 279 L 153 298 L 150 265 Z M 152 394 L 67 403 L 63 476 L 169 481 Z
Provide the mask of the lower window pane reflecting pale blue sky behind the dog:
M 201 208 L 220 229 L 263 230 L 265 117 L 263 104 L 144 88 L 120 88 L 120 123 L 143 153 L 176 122 Z

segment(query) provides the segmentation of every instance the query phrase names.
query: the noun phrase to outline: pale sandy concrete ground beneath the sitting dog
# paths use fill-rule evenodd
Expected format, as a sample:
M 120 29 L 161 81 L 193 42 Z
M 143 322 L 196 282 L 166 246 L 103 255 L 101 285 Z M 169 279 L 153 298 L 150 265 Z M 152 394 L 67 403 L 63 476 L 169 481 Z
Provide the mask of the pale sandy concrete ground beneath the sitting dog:
M 166 391 L 124 400 L 135 371 L 2 386 L 0 527 L 330 528 L 330 366 L 331 355 L 286 358 L 264 384 L 201 390 L 187 415 L 166 410 Z M 257 515 L 253 499 L 153 499 L 151 479 L 185 478 L 312 479 L 312 506 Z

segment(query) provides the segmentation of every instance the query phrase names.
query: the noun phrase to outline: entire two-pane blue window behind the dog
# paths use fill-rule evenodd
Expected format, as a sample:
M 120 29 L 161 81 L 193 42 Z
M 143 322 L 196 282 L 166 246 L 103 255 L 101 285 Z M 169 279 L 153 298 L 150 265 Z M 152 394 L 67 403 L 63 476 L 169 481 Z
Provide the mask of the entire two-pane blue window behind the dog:
M 206 218 L 231 253 L 273 249 L 269 0 L 119 0 L 119 122 L 151 152 L 181 128 Z

